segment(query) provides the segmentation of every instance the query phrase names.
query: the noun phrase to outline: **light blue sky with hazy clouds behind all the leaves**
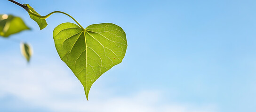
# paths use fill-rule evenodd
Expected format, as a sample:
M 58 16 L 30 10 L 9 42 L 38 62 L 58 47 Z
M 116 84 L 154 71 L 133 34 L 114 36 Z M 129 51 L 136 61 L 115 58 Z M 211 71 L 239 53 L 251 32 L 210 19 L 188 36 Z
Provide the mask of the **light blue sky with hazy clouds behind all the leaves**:
M 123 62 L 83 87 L 56 52 L 53 29 L 40 30 L 21 7 L 1 1 L 0 14 L 32 30 L 0 38 L 0 112 L 255 112 L 255 0 L 17 0 L 41 15 L 63 11 L 82 26 L 124 29 Z M 34 55 L 27 64 L 23 40 Z

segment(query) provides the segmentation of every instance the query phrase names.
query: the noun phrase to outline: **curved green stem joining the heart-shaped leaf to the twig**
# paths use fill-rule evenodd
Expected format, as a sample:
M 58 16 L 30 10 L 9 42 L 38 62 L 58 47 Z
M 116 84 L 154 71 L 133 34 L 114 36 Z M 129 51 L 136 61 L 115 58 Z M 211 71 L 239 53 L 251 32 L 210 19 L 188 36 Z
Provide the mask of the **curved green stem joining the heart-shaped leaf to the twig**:
M 70 18 L 72 18 L 72 19 L 80 26 L 80 28 L 82 28 L 82 30 L 85 30 L 85 29 L 79 24 L 78 21 L 76 21 L 71 15 L 66 14 L 66 13 L 64 13 L 64 12 L 61 12 L 61 11 L 54 11 L 54 12 L 51 12 L 51 13 L 45 15 L 45 16 L 41 16 L 41 15 L 39 15 L 39 14 L 33 13 L 30 9 L 26 9 L 26 10 L 27 10 L 30 14 L 32 14 L 32 15 L 34 15 L 34 16 L 36 16 L 36 17 L 39 17 L 39 18 L 41 18 L 41 19 L 47 19 L 51 14 L 54 14 L 54 13 L 62 13 L 62 14 L 65 14 L 65 15 L 69 16 Z

